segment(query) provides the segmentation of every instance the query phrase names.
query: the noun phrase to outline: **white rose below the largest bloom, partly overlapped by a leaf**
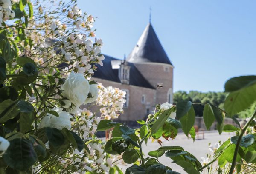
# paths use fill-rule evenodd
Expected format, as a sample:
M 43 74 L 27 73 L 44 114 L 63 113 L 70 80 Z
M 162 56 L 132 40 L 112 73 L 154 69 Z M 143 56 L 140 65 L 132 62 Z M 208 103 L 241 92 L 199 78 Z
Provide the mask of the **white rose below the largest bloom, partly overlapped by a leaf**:
M 71 121 L 70 118 L 72 117 L 70 113 L 66 111 L 62 111 L 62 108 L 54 108 L 52 111 L 56 111 L 59 115 L 59 117 L 56 117 L 52 114 L 47 113 L 47 115 L 41 120 L 41 122 L 38 124 L 38 128 L 71 128 Z

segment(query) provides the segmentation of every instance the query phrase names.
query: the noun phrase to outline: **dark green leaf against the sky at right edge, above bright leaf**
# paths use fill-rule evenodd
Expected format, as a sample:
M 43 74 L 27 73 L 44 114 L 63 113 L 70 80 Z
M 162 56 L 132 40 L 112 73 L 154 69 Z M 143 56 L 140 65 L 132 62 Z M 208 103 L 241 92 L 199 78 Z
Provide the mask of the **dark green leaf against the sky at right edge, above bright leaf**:
M 250 86 L 254 83 L 256 83 L 256 76 L 234 77 L 230 80 L 227 80 L 227 82 L 225 83 L 225 92 L 238 91 L 241 88 Z

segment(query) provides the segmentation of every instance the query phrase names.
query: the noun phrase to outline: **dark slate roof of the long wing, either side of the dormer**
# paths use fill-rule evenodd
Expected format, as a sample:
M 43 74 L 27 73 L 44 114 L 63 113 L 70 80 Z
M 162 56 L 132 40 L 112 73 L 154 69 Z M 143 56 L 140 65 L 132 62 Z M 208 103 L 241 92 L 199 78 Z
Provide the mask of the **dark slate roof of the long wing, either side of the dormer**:
M 105 60 L 103 60 L 103 66 L 97 66 L 97 70 L 94 71 L 93 77 L 110 80 L 113 82 L 121 83 L 118 77 L 118 69 L 112 69 L 111 60 L 119 60 L 108 55 L 104 55 Z M 146 80 L 140 71 L 134 66 L 133 63 L 128 63 L 130 68 L 130 85 L 140 86 L 144 88 L 155 89 L 151 84 Z

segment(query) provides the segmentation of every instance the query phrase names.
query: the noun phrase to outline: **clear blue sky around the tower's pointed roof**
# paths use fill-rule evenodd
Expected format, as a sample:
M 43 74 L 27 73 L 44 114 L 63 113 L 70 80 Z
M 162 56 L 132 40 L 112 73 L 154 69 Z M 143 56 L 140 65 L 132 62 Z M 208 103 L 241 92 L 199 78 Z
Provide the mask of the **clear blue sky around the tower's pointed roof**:
M 96 19 L 102 52 L 129 54 L 149 20 L 175 66 L 174 91 L 223 91 L 230 77 L 256 74 L 254 0 L 78 0 Z

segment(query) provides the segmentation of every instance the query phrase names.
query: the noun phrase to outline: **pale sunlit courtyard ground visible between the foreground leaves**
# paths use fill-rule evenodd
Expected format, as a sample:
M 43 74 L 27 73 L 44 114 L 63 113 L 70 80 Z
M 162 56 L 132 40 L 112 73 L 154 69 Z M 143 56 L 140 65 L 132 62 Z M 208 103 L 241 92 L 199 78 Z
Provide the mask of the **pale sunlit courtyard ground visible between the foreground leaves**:
M 161 140 L 163 141 L 163 146 L 167 146 L 167 145 L 182 146 L 184 150 L 189 151 L 199 161 L 201 161 L 201 157 L 206 157 L 206 154 L 209 153 L 209 147 L 208 147 L 209 142 L 211 142 L 211 144 L 214 145 L 219 140 L 223 142 L 227 140 L 228 137 L 233 137 L 233 136 L 235 136 L 234 133 L 223 132 L 221 135 L 219 135 L 217 131 L 208 131 L 204 133 L 204 139 L 196 138 L 194 143 L 193 143 L 193 140 L 188 139 L 183 133 L 179 133 L 175 138 L 175 140 L 169 140 L 169 141 L 165 139 L 161 139 Z M 147 146 L 144 143 L 143 152 L 145 155 L 147 155 L 149 151 L 156 150 L 159 147 L 160 145 L 156 141 L 153 143 L 148 142 Z M 180 172 L 181 174 L 186 174 L 186 172 L 183 171 L 183 169 L 180 166 L 176 165 L 175 163 L 172 163 L 172 160 L 169 157 L 165 157 L 163 155 L 162 157 L 159 158 L 159 161 L 163 165 L 167 165 L 171 167 L 174 171 Z M 131 165 L 120 164 L 119 166 L 122 168 L 122 171 L 125 171 L 125 169 Z

